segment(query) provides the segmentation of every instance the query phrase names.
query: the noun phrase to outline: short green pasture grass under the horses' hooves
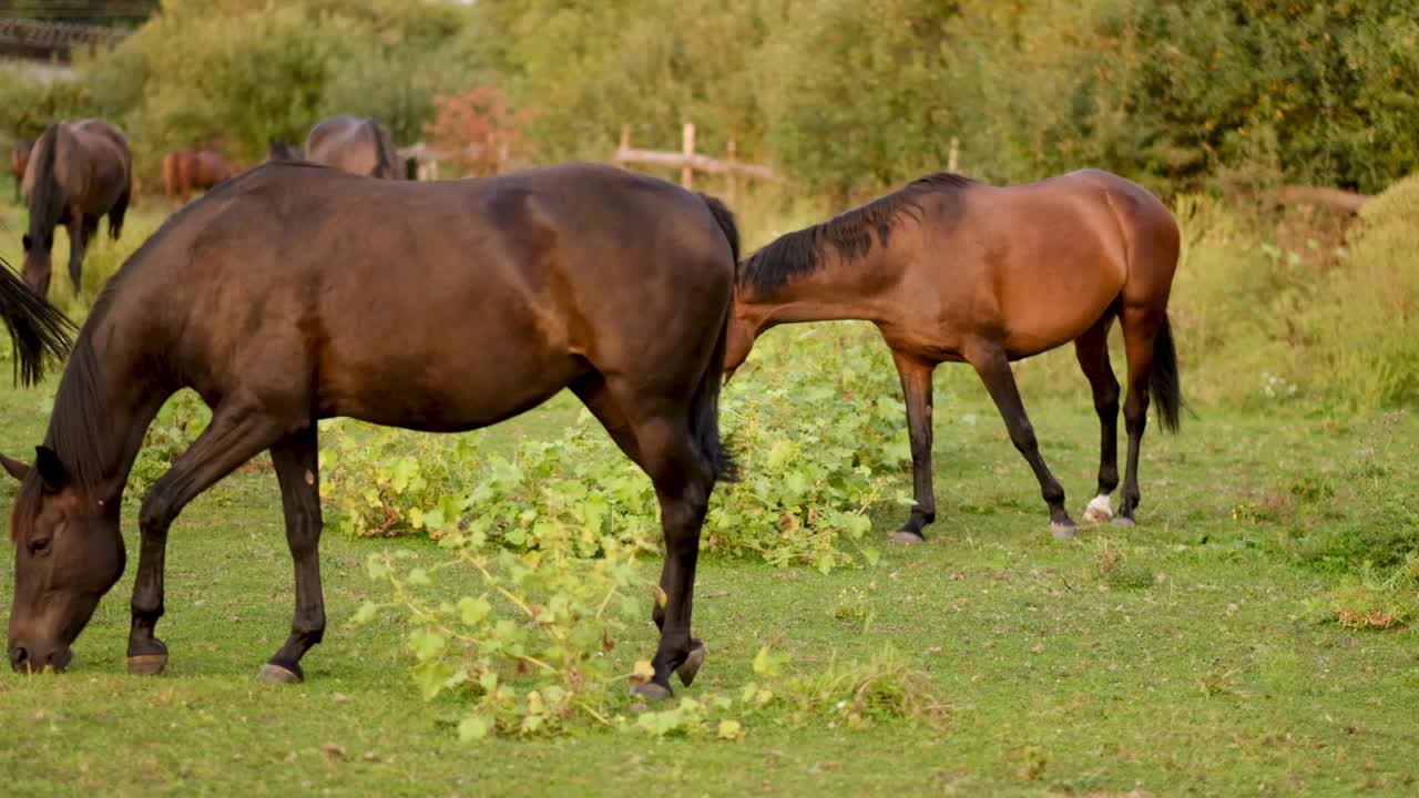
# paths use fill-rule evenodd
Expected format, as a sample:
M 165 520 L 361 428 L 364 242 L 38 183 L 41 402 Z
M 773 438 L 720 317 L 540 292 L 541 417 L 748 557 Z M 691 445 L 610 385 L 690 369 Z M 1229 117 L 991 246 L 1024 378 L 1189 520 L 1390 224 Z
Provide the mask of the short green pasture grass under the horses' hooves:
M 1149 434 L 1137 530 L 1057 542 L 983 393 L 955 373 L 942 382 L 929 544 L 827 576 L 702 561 L 695 621 L 711 655 L 683 690 L 738 690 L 761 645 L 790 655 L 790 673 L 893 646 L 949 703 L 942 731 L 771 717 L 741 743 L 589 731 L 464 745 L 446 720 L 454 707 L 419 700 L 402 629 L 387 618 L 348 622 L 362 601 L 383 598 L 363 574 L 366 554 L 402 547 L 433 561 L 436 550 L 338 534 L 325 538 L 331 628 L 305 659 L 308 683 L 258 684 L 253 674 L 285 639 L 292 588 L 275 480 L 245 471 L 173 530 L 165 676 L 123 673 L 132 568 L 68 673 L 0 676 L 4 791 L 1412 794 L 1419 636 L 1320 623 L 1303 602 L 1335 586 L 1325 552 L 1342 531 L 1388 540 L 1413 524 L 1403 501 L 1419 484 L 1419 419 L 1205 410 L 1178 437 Z M 1027 400 L 1078 514 L 1097 467 L 1093 409 L 1039 392 Z M 23 453 L 40 439 L 43 402 L 44 389 L 0 390 L 0 449 Z M 559 398 L 478 434 L 546 434 L 572 408 Z M 908 486 L 902 473 L 897 488 Z M 880 508 L 878 532 L 901 510 Z M 131 552 L 135 514 L 131 497 Z M 0 594 L 11 589 L 6 568 Z M 648 621 L 622 645 L 648 656 Z

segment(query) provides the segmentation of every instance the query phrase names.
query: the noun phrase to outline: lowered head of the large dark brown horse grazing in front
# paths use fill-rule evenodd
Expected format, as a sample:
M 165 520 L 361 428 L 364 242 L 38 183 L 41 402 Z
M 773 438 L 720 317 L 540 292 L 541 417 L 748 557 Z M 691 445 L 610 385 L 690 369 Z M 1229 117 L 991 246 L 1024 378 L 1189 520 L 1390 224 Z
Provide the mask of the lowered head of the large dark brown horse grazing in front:
M 35 452 L 33 469 L 0 456 L 20 480 L 10 517 L 16 551 L 7 647 L 18 672 L 70 663 L 70 646 L 125 564 L 118 507 L 88 497 L 53 450 Z

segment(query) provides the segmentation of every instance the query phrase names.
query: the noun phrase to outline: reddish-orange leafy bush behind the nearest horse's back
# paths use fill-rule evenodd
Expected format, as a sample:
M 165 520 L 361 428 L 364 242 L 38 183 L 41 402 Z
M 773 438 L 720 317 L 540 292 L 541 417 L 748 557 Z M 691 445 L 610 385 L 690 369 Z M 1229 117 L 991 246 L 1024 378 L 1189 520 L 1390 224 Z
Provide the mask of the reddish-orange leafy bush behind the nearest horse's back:
M 525 131 L 534 114 L 508 108 L 507 97 L 498 87 L 440 94 L 434 106 L 434 121 L 424 131 L 433 146 L 465 175 L 497 175 L 531 153 Z

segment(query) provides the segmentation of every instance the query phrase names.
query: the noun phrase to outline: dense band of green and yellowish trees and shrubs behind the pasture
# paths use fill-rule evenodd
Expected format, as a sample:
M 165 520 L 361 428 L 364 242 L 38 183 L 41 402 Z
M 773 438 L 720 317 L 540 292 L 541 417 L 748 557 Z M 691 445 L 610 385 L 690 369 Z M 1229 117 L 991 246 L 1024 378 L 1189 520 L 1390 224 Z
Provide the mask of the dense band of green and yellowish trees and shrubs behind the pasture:
M 143 162 L 255 159 L 333 112 L 409 143 L 436 94 L 480 85 L 534 114 L 545 160 L 604 159 L 626 125 L 673 148 L 694 121 L 702 152 L 732 138 L 834 199 L 941 169 L 952 138 L 975 176 L 1100 166 L 1165 192 L 1419 168 L 1408 0 L 166 0 L 78 87 L 9 87 L 0 126 L 96 112 Z

